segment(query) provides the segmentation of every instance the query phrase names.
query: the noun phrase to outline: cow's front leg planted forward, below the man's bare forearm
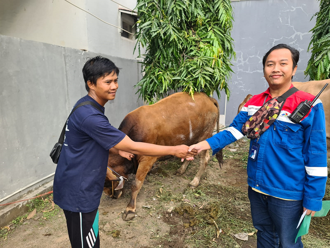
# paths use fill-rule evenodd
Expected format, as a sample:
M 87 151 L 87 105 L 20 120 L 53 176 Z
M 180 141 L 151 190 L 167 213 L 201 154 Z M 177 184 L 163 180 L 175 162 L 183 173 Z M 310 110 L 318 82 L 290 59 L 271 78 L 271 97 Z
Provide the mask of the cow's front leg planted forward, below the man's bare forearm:
M 132 198 L 129 204 L 126 207 L 126 210 L 123 214 L 123 220 L 129 221 L 135 217 L 135 208 L 136 208 L 136 197 L 139 193 L 144 179 L 146 178 L 147 173 L 149 172 L 150 168 L 153 166 L 154 162 L 156 162 L 157 157 L 148 157 L 142 156 L 141 160 L 139 161 L 139 166 L 137 168 L 137 172 L 135 175 L 135 180 L 132 183 Z

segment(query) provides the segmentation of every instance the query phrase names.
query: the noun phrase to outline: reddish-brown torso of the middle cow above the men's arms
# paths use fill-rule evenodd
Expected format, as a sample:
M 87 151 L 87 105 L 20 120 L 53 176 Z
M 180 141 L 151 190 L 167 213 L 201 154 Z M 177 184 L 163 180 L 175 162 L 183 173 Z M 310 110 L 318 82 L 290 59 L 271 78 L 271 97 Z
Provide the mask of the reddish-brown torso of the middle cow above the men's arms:
M 195 93 L 194 99 L 180 92 L 141 106 L 125 117 L 119 129 L 138 142 L 166 146 L 198 143 L 212 135 L 219 107 L 204 93 Z

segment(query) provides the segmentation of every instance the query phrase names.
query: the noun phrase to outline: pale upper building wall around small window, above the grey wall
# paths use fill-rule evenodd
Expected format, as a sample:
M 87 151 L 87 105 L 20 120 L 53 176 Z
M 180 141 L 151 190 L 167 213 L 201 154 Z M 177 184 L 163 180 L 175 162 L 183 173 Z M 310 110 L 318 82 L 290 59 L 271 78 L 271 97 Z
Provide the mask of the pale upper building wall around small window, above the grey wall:
M 120 24 L 119 8 L 133 9 L 136 0 L 69 0 L 103 21 Z M 135 40 L 65 0 L 0 0 L 0 34 L 115 57 L 135 59 Z

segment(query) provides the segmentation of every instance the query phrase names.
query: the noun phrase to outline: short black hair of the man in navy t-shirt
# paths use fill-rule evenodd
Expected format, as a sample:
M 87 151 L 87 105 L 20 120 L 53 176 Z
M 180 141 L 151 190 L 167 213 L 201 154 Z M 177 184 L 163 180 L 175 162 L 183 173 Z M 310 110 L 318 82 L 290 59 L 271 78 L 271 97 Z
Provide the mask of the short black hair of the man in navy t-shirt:
M 110 59 L 101 56 L 90 58 L 83 67 L 86 90 L 89 91 L 88 81 L 96 85 L 98 78 L 105 77 L 111 73 L 118 75 L 119 68 Z

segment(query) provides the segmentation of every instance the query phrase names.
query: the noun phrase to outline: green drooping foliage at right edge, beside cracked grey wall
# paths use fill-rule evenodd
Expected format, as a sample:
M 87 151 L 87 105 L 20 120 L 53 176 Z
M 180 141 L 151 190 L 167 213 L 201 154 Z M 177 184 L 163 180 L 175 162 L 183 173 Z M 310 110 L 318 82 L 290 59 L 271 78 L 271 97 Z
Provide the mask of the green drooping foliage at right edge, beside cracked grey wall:
M 320 11 L 315 16 L 316 25 L 310 30 L 313 35 L 308 46 L 311 56 L 305 75 L 309 75 L 309 80 L 323 80 L 330 75 L 330 0 L 320 0 Z

